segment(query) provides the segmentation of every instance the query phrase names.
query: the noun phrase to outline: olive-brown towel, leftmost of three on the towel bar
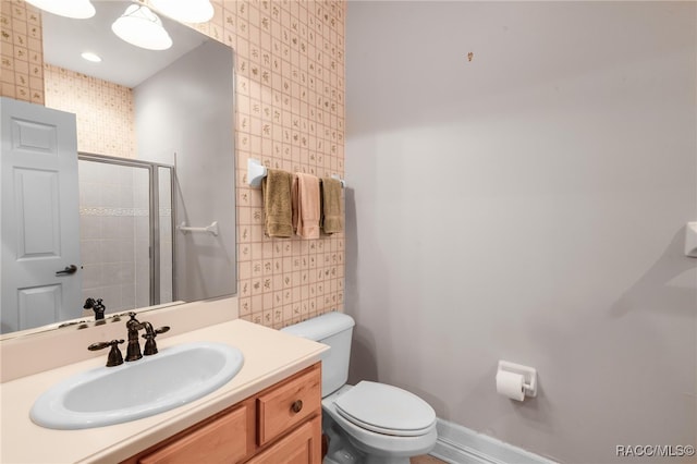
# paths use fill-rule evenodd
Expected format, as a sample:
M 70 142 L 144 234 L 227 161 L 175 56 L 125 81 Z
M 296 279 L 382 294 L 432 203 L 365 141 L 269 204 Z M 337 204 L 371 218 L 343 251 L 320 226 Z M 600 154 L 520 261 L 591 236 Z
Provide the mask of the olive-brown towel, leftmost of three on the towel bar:
M 267 236 L 293 236 L 293 206 L 291 188 L 293 174 L 277 169 L 268 169 L 261 180 L 264 197 L 264 232 Z

